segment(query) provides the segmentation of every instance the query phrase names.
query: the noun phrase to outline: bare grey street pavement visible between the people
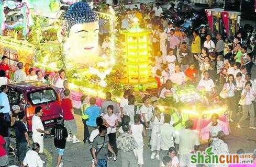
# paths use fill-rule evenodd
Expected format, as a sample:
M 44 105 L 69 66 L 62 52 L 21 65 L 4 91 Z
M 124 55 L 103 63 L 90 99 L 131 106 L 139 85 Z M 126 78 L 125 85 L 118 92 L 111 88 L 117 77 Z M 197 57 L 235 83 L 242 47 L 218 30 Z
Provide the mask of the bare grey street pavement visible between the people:
M 256 68 L 255 66 L 252 69 L 253 79 L 256 78 Z M 249 129 L 249 121 L 246 121 L 242 125 L 242 129 L 236 128 L 236 123 L 238 122 L 241 115 L 234 114 L 234 123 L 230 124 L 231 132 L 230 135 L 226 136 L 225 141 L 228 144 L 230 153 L 236 153 L 239 149 L 244 149 L 246 153 L 252 153 L 256 149 L 256 130 Z M 81 121 L 81 111 L 75 110 L 75 120 L 78 130 L 78 138 L 83 140 L 83 123 Z M 30 137 L 30 141 L 32 139 Z M 200 150 L 205 150 L 207 147 L 206 144 L 200 147 Z M 90 166 L 92 162 L 92 157 L 90 154 L 90 146 L 79 142 L 72 144 L 72 142 L 67 142 L 65 154 L 63 156 L 63 163 L 65 167 L 87 167 Z M 147 147 L 147 144 L 144 146 L 143 159 L 145 167 L 155 167 L 158 166 L 158 160 L 150 159 L 150 148 Z M 44 138 L 44 153 L 40 155 L 43 161 L 46 162 L 44 166 L 51 167 L 56 166 L 57 162 L 57 151 L 53 144 L 53 138 L 46 136 Z M 9 156 L 10 163 L 9 165 L 18 165 L 17 158 L 14 156 Z M 110 159 L 108 161 L 108 166 L 110 167 L 119 167 L 121 166 L 120 157 L 117 158 L 117 161 Z M 127 166 L 128 167 L 128 166 Z

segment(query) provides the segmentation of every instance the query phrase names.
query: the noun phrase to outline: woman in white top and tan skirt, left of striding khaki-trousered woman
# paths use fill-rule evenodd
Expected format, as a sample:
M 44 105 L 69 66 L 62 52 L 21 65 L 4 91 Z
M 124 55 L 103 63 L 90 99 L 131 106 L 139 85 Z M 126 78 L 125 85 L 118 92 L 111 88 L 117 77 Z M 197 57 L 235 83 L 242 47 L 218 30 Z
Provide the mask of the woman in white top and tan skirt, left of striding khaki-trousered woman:
M 236 82 L 232 74 L 228 75 L 228 81 L 224 84 L 222 91 L 227 92 L 227 98 L 225 100 L 229 110 L 229 121 L 233 122 L 232 114 L 233 114 L 233 111 L 236 110 L 236 105 L 234 105 Z

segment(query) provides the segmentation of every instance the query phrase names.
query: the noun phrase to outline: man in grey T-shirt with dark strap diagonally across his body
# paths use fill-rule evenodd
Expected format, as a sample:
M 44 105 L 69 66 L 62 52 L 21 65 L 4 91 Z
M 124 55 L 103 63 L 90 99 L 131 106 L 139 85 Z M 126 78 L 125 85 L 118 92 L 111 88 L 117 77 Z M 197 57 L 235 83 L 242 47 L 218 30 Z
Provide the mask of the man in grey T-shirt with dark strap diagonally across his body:
M 107 134 L 107 127 L 105 125 L 99 126 L 99 134 L 94 138 L 92 145 L 92 156 L 94 165 L 97 167 L 107 167 L 108 150 L 114 155 L 116 160 L 116 154 L 109 144 L 109 138 Z

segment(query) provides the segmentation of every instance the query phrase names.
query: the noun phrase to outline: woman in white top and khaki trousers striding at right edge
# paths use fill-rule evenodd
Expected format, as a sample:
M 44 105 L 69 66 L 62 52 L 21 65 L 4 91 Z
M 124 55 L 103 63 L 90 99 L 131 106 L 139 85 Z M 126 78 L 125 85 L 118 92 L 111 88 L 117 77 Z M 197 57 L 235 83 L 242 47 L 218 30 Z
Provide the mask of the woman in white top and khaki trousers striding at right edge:
M 256 129 L 254 126 L 254 108 L 252 101 L 254 101 L 256 95 L 255 92 L 251 89 L 252 83 L 247 81 L 244 89 L 242 90 L 241 100 L 244 100 L 244 104 L 242 105 L 243 116 L 240 118 L 239 122 L 237 123 L 237 128 L 241 129 L 241 124 L 246 121 L 248 113 L 250 113 L 250 129 Z

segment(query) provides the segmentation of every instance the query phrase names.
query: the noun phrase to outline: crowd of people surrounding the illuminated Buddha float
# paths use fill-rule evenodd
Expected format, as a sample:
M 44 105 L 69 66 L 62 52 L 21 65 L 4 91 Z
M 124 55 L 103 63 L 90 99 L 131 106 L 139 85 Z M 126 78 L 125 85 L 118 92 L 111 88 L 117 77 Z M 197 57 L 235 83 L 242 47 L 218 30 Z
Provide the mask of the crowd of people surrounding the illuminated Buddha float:
M 205 27 L 198 32 L 188 34 L 181 31 L 179 25 L 167 22 L 162 16 L 160 4 L 152 9 L 127 9 L 120 20 L 120 29 L 131 27 L 136 17 L 142 27 L 152 29 L 152 67 L 151 72 L 158 85 L 158 96 L 142 97 L 142 106 L 137 105 L 135 95 L 125 90 L 123 98 L 117 103 L 112 94 L 106 92 L 101 106 L 96 105 L 95 97 L 81 97 L 81 113 L 84 125 L 84 144 L 88 143 L 92 156 L 92 166 L 107 166 L 109 159 L 121 159 L 121 165 L 143 166 L 143 150 L 149 146 L 151 159 L 159 160 L 159 167 L 195 166 L 191 164 L 191 154 L 201 145 L 198 134 L 193 130 L 194 122 L 182 112 L 181 105 L 169 106 L 171 113 L 164 113 L 158 107 L 159 99 L 166 99 L 175 92 L 173 85 L 195 85 L 208 94 L 220 96 L 228 105 L 228 120 L 234 122 L 236 114 L 242 117 L 236 127 L 250 117 L 249 128 L 254 125 L 256 81 L 251 79 L 253 66 L 252 54 L 242 46 L 241 33 L 231 43 L 216 34 L 213 39 Z M 104 20 L 99 21 L 101 46 L 104 54 L 109 54 L 109 31 Z M 102 22 L 102 23 L 101 23 Z M 189 37 L 193 37 L 192 41 Z M 43 136 L 54 136 L 57 148 L 57 166 L 63 166 L 62 156 L 66 142 L 81 142 L 77 138 L 77 125 L 69 83 L 62 69 L 54 76 L 44 75 L 41 70 L 30 68 L 28 75 L 23 63 L 17 64 L 14 82 L 25 80 L 41 81 L 54 86 L 61 98 L 62 116 L 51 132 L 44 130 L 40 117 L 42 108 L 35 109 L 32 117 L 32 141 L 28 136 L 28 127 L 24 111 L 18 105 L 10 108 L 8 87 L 10 72 L 8 58 L 2 57 L 0 64 L 0 166 L 8 164 L 10 127 L 14 127 L 17 158 L 20 166 L 43 166 L 39 157 L 43 153 Z M 228 145 L 224 142 L 224 129 L 218 123 L 218 114 L 211 116 L 209 145 L 216 154 L 228 154 Z M 146 146 L 145 146 L 146 145 Z M 221 146 L 221 147 L 220 147 Z M 28 150 L 31 147 L 32 150 Z M 241 152 L 242 150 L 240 150 Z M 89 155 L 90 156 L 90 155 Z M 254 151 L 254 162 L 256 151 Z M 214 164 L 213 166 L 220 166 Z M 225 166 L 228 166 L 227 164 Z

